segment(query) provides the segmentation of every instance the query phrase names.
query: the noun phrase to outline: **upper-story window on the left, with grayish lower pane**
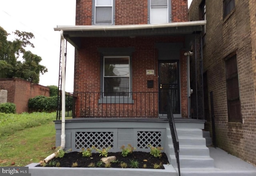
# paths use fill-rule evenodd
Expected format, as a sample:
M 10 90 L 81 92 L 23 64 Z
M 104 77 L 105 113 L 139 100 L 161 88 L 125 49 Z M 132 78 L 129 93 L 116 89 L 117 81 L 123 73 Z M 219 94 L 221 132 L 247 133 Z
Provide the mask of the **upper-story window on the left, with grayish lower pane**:
M 93 24 L 113 24 L 114 0 L 94 0 L 92 13 Z

